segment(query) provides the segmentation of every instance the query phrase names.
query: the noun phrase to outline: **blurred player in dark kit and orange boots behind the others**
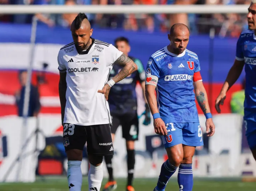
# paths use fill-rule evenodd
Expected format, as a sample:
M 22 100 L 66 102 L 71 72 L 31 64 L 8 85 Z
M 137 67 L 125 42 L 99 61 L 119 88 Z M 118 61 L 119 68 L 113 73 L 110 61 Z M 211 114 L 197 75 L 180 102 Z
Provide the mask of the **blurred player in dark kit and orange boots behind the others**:
M 129 46 L 129 41 L 125 37 L 119 37 L 115 39 L 115 46 L 118 50 L 122 51 L 126 56 L 128 56 L 131 47 Z M 115 132 L 119 125 L 122 126 L 123 138 L 126 140 L 127 148 L 127 168 L 128 168 L 128 181 L 127 181 L 127 191 L 134 191 L 132 187 L 133 171 L 135 165 L 135 150 L 134 141 L 138 140 L 139 133 L 139 121 L 137 114 L 137 96 L 136 96 L 136 84 L 139 81 L 143 90 L 143 95 L 145 95 L 145 72 L 143 65 L 139 59 L 132 56 L 128 56 L 133 60 L 138 70 L 133 72 L 131 75 L 118 82 L 109 92 L 109 107 L 110 114 L 112 117 L 113 125 L 111 127 L 112 140 L 114 142 Z M 110 72 L 109 80 L 112 79 L 118 72 L 122 69 L 122 66 L 115 64 L 113 70 Z M 144 98 L 146 101 L 146 98 Z M 146 111 L 145 119 L 143 124 L 150 124 L 150 109 L 145 104 Z M 112 158 L 113 156 L 105 156 L 105 162 L 109 173 L 109 181 L 104 187 L 104 191 L 115 190 L 117 188 L 117 182 L 114 181 L 113 168 L 112 168 Z

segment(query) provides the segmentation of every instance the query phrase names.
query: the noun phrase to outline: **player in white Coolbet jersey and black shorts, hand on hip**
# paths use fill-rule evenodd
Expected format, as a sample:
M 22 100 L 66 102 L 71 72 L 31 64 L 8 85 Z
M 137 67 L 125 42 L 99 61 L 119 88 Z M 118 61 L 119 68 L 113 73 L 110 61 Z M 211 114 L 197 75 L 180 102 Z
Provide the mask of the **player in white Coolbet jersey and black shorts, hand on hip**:
M 93 29 L 85 14 L 77 15 L 71 32 L 74 42 L 62 47 L 58 54 L 68 187 L 70 191 L 81 191 L 82 151 L 87 142 L 90 162 L 88 190 L 100 191 L 103 156 L 114 154 L 107 102 L 109 90 L 136 71 L 137 65 L 112 44 L 93 39 Z M 123 68 L 107 81 L 113 64 Z

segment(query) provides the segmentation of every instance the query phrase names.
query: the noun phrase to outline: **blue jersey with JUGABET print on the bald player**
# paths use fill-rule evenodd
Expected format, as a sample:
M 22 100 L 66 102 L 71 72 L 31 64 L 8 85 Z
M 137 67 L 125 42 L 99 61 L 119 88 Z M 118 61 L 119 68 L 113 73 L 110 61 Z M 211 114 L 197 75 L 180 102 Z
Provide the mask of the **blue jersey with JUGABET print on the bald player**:
M 193 76 L 199 71 L 198 56 L 189 50 L 175 55 L 166 46 L 148 60 L 146 84 L 156 86 L 158 110 L 165 123 L 199 122 L 193 86 Z

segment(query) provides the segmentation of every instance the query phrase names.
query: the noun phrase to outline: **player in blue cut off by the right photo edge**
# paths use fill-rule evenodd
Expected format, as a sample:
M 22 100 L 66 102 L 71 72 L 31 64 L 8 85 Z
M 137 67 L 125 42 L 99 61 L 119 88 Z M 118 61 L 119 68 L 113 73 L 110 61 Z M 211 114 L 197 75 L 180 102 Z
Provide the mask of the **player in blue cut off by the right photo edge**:
M 216 99 L 215 108 L 218 113 L 221 113 L 219 105 L 223 105 L 227 91 L 237 81 L 245 65 L 246 84 L 243 120 L 248 145 L 256 160 L 256 0 L 252 1 L 248 9 L 247 20 L 250 30 L 241 32 L 237 41 L 236 60 Z

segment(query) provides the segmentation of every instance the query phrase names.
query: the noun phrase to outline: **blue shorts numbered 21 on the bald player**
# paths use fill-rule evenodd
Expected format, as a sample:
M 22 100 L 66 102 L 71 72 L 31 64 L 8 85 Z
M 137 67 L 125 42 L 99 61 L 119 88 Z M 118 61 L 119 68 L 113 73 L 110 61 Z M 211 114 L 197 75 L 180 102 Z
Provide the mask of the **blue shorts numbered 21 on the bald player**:
M 199 122 L 166 124 L 168 135 L 162 135 L 165 148 L 184 144 L 188 146 L 203 146 L 203 133 Z

